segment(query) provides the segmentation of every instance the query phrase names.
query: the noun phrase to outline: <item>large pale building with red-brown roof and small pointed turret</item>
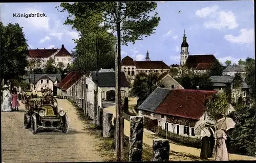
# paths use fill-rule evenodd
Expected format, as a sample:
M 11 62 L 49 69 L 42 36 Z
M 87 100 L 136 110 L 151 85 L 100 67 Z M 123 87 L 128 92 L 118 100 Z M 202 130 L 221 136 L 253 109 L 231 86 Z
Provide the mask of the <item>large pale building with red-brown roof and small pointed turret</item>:
M 128 77 L 134 79 L 135 75 L 140 72 L 169 72 L 170 67 L 163 61 L 151 61 L 147 51 L 145 61 L 135 61 L 131 57 L 126 56 L 121 61 L 121 71 Z

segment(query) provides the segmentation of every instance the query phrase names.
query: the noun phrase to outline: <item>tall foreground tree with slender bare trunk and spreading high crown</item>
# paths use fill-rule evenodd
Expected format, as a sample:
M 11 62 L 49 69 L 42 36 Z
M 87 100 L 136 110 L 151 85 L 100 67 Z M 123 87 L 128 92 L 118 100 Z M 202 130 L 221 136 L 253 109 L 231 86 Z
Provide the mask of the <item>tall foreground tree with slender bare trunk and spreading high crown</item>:
M 121 43 L 127 45 L 128 42 L 135 43 L 136 40 L 142 40 L 143 36 L 147 37 L 154 33 L 156 26 L 160 21 L 160 17 L 155 13 L 150 13 L 157 7 L 155 2 L 104 2 L 104 3 L 61 3 L 64 10 L 75 16 L 74 20 L 67 18 L 67 24 L 80 24 L 91 29 L 95 24 L 103 23 L 105 28 L 117 32 L 117 117 L 121 115 L 121 96 L 120 96 L 120 76 L 121 76 Z M 93 21 L 90 23 L 91 19 Z M 86 22 L 86 23 L 85 23 Z M 116 118 L 116 156 L 117 160 L 121 160 L 122 134 L 119 130 L 120 118 Z M 119 133 L 119 135 L 118 135 Z M 120 138 L 120 139 L 119 139 Z M 118 143 L 119 142 L 119 143 Z

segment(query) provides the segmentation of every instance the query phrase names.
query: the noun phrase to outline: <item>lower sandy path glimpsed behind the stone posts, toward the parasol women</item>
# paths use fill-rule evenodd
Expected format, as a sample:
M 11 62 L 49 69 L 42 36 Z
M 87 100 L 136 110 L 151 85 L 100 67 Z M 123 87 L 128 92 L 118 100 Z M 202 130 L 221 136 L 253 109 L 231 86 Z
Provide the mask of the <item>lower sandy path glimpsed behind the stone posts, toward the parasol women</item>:
M 130 102 L 130 101 L 129 101 Z M 131 102 L 132 103 L 132 102 Z M 110 106 L 105 108 L 109 112 L 113 113 L 113 119 L 116 116 L 115 106 Z M 112 122 L 113 123 L 113 122 Z M 130 122 L 124 119 L 124 134 L 130 136 Z M 144 128 L 143 132 L 143 143 L 152 146 L 153 139 L 161 139 L 155 135 L 154 132 L 148 131 Z M 171 154 L 169 156 L 169 160 L 172 161 L 193 161 L 200 160 L 200 149 L 187 147 L 178 145 L 175 143 L 170 143 Z M 213 160 L 213 158 L 209 158 Z M 237 154 L 229 154 L 230 160 L 254 160 L 254 157 L 237 155 Z

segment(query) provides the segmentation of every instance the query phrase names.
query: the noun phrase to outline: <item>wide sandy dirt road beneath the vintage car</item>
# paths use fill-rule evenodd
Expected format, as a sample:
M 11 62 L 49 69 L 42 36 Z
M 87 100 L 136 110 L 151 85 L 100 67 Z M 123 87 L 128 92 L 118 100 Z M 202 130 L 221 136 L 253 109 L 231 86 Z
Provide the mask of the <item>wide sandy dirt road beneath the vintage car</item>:
M 59 107 L 68 111 L 68 134 L 43 131 L 33 135 L 23 126 L 24 105 L 21 105 L 20 112 L 2 112 L 2 161 L 5 163 L 104 160 L 102 152 L 98 151 L 101 142 L 83 130 L 85 125 L 68 100 L 58 99 Z

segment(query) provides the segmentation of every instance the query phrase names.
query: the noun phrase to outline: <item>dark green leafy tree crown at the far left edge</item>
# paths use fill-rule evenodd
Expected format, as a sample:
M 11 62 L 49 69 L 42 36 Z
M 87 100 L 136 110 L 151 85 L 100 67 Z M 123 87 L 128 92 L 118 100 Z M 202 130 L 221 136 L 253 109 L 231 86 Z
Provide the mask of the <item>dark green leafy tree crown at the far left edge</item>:
M 18 23 L 7 26 L 0 22 L 1 30 L 1 78 L 13 80 L 26 74 L 28 44 L 23 28 Z M 1 80 L 2 85 L 2 80 Z

